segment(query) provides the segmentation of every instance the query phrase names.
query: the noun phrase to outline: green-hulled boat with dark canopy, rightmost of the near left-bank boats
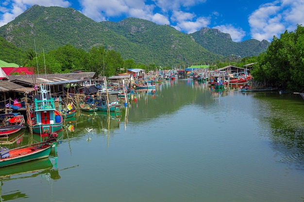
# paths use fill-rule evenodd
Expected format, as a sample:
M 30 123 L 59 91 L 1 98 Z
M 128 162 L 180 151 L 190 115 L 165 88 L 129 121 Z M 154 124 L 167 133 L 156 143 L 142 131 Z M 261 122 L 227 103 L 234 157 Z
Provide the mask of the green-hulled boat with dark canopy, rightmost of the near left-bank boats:
M 99 111 L 120 111 L 121 109 L 117 91 L 101 92 L 100 96 L 95 96 L 94 102 L 94 107 Z

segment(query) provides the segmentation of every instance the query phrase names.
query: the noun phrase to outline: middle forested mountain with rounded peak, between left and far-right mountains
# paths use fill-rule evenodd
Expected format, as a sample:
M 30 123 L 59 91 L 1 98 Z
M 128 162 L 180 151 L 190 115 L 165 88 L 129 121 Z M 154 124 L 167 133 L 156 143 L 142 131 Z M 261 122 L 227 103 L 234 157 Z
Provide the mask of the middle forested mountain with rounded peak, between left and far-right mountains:
M 189 35 L 168 25 L 157 25 L 151 21 L 126 18 L 119 22 L 103 21 L 101 25 L 115 31 L 128 41 L 138 44 L 138 49 L 132 56 L 141 58 L 141 62 L 154 62 L 155 64 L 173 65 L 185 62 L 210 62 L 220 56 L 211 53 L 195 43 Z M 128 50 L 119 50 L 126 55 Z

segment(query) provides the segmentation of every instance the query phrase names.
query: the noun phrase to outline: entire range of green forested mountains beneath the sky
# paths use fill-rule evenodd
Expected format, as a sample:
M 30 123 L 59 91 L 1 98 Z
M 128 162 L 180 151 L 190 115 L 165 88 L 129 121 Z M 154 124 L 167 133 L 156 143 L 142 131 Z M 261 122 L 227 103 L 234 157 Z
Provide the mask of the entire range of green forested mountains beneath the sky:
M 185 34 L 168 25 L 137 18 L 98 23 L 73 8 L 38 5 L 0 27 L 0 37 L 23 50 L 36 48 L 38 53 L 66 44 L 85 51 L 102 46 L 120 53 L 124 60 L 134 59 L 137 63 L 159 66 L 210 63 L 230 54 L 245 57 L 266 50 L 259 52 L 256 40 L 253 40 L 255 44 L 247 43 L 247 46 L 254 47 L 242 50 L 239 44 L 246 44 L 247 41 L 235 43 L 230 36 L 224 40 L 214 34 L 210 37 L 197 32 Z M 226 51 L 213 50 L 214 44 Z

